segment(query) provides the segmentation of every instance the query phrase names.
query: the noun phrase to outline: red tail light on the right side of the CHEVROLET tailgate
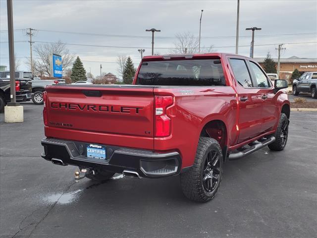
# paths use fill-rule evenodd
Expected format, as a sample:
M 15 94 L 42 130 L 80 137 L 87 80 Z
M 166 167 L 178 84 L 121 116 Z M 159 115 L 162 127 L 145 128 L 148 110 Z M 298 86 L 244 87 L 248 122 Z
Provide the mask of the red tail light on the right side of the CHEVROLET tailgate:
M 172 96 L 155 96 L 155 136 L 170 135 L 170 118 L 166 109 L 173 104 Z

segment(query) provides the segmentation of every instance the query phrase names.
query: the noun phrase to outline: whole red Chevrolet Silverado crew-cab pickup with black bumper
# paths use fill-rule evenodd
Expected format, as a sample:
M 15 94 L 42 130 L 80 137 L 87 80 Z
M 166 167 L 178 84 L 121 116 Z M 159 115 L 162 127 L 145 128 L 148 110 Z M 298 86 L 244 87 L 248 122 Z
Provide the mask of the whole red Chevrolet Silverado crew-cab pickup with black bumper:
M 42 157 L 95 180 L 180 175 L 184 195 L 206 202 L 226 160 L 284 149 L 283 88 L 243 56 L 147 56 L 133 85 L 47 86 Z

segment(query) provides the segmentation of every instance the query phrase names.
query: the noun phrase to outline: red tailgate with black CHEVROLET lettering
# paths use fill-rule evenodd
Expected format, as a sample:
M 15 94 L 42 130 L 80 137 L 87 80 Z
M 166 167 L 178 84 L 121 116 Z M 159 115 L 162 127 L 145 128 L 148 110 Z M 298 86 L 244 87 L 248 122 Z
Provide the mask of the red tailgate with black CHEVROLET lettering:
M 48 126 L 153 137 L 152 87 L 48 86 Z

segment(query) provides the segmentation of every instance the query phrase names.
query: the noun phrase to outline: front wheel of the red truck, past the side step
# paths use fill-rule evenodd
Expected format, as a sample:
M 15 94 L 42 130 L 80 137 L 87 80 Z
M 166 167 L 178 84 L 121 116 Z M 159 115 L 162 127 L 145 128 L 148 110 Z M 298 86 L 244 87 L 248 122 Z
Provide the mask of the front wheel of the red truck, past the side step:
M 278 122 L 276 132 L 274 134 L 275 141 L 268 145 L 270 150 L 281 151 L 286 146 L 288 137 L 288 118 L 284 113 L 281 113 L 281 117 Z

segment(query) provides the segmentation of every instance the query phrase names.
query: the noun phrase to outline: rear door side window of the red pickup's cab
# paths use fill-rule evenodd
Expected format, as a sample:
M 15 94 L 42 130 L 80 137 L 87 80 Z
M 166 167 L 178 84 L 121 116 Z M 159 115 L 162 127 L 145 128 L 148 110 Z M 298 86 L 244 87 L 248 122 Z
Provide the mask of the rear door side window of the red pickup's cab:
M 246 62 L 240 59 L 230 59 L 230 65 L 238 83 L 245 88 L 252 87 L 252 81 Z

